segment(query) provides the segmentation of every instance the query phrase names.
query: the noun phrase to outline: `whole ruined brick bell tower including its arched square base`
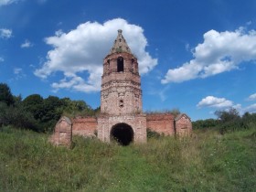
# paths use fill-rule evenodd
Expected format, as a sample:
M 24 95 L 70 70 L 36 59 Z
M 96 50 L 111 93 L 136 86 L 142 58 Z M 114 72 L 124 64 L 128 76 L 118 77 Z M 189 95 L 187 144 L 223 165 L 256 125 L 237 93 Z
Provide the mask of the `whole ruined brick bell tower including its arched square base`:
M 101 115 L 97 123 L 98 138 L 103 142 L 116 140 L 123 145 L 146 142 L 138 61 L 121 29 L 103 61 Z

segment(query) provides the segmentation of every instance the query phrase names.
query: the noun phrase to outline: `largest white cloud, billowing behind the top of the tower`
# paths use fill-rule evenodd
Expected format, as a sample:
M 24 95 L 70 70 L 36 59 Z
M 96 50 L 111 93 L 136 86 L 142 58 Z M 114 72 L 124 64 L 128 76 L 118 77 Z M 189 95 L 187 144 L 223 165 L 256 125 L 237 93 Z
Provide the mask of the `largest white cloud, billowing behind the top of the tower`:
M 103 58 L 110 52 L 118 29 L 123 29 L 123 37 L 138 58 L 140 73 L 153 69 L 157 59 L 153 59 L 145 51 L 147 40 L 143 28 L 116 18 L 102 25 L 86 22 L 69 33 L 59 30 L 55 36 L 47 37 L 46 43 L 53 48 L 48 51 L 47 61 L 35 71 L 35 75 L 47 79 L 56 71 L 63 72 L 65 78 L 52 83 L 55 91 L 100 91 Z M 82 78 L 80 72 L 88 73 L 88 78 Z

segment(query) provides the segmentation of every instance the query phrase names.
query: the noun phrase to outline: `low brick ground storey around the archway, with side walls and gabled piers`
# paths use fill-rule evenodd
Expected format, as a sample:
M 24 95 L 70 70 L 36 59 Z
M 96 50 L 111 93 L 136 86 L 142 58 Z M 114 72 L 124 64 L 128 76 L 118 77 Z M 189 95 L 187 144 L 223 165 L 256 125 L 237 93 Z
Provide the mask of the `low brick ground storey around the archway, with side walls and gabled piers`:
M 144 117 L 145 121 L 144 122 Z M 136 127 L 137 122 L 145 123 L 146 128 L 156 133 L 165 135 L 190 135 L 192 133 L 192 123 L 185 113 L 175 116 L 170 113 L 153 113 L 135 116 L 110 116 L 106 117 L 77 117 L 69 120 L 68 117 L 61 117 L 55 126 L 55 132 L 50 137 L 50 142 L 56 145 L 70 146 L 72 135 L 85 137 L 97 136 L 101 141 L 110 142 L 110 130 L 102 129 L 101 126 L 112 127 L 117 123 L 128 123 Z M 101 125 L 101 126 L 99 126 Z M 140 128 L 141 127 L 141 128 Z M 134 142 L 141 143 L 146 141 L 146 132 L 142 129 L 144 125 L 137 127 L 140 133 L 135 134 Z M 105 131 L 104 131 L 105 130 Z M 138 131 L 137 131 L 138 132 Z

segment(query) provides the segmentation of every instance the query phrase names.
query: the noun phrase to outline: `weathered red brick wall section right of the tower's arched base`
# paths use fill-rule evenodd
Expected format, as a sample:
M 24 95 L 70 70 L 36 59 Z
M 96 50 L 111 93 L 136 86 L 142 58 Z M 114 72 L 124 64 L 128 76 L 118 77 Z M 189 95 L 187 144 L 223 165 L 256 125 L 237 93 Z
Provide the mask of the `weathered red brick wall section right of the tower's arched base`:
M 174 115 L 171 113 L 147 114 L 146 128 L 165 135 L 175 134 Z

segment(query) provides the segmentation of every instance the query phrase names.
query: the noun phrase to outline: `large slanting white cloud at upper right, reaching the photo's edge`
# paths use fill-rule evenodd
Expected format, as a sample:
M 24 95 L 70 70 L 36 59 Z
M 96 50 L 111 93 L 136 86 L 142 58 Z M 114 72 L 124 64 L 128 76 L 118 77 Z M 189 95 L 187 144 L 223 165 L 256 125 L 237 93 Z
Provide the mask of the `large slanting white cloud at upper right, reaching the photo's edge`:
M 194 48 L 193 57 L 181 67 L 169 69 L 161 82 L 207 78 L 256 60 L 256 31 L 245 31 L 243 27 L 225 32 L 210 30 L 204 34 L 204 42 Z

